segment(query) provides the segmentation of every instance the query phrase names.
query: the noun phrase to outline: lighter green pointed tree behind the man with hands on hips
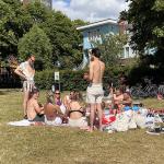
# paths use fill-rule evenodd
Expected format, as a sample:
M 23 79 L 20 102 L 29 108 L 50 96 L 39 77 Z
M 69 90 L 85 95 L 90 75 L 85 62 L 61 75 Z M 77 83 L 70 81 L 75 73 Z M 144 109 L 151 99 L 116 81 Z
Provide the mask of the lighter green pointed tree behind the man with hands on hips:
M 19 57 L 26 59 L 26 55 L 33 54 L 36 57 L 37 69 L 50 69 L 51 62 L 51 44 L 45 32 L 36 24 L 19 40 Z

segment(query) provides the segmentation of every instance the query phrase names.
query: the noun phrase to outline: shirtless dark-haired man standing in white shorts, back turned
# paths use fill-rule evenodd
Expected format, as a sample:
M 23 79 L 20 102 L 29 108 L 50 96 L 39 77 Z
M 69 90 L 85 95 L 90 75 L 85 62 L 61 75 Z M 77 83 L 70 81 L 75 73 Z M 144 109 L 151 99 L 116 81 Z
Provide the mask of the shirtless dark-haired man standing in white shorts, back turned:
M 105 63 L 99 60 L 101 52 L 98 48 L 93 48 L 91 52 L 90 73 L 89 81 L 90 85 L 86 90 L 86 101 L 91 107 L 90 115 L 90 131 L 93 131 L 95 114 L 97 110 L 99 130 L 102 130 L 102 99 L 104 96 L 103 91 L 103 75 L 105 71 Z

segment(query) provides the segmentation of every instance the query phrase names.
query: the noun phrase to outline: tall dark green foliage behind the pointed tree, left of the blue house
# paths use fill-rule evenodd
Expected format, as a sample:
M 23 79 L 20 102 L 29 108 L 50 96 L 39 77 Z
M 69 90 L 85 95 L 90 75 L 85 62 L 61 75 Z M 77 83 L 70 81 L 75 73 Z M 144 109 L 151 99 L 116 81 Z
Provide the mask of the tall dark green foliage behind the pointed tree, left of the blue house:
M 34 24 L 48 36 L 52 45 L 51 63 L 60 62 L 61 68 L 73 68 L 82 61 L 79 45 L 82 37 L 77 25 L 83 21 L 71 21 L 59 11 L 48 10 L 39 1 L 22 5 L 20 0 L 0 0 L 0 52 L 5 58 L 17 56 L 17 44 Z

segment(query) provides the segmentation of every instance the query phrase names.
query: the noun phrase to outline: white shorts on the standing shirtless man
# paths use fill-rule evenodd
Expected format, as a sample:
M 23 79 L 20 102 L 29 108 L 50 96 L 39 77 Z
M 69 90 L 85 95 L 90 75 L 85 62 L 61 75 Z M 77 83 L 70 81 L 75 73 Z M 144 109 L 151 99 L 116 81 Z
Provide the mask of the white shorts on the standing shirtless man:
M 90 84 L 86 90 L 86 103 L 101 104 L 104 97 L 102 84 Z

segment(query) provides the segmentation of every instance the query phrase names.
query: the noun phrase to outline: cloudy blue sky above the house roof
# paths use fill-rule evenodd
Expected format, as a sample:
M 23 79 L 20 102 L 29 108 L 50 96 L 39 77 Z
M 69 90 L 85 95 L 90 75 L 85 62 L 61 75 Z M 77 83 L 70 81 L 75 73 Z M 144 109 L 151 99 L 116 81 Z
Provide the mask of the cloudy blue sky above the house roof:
M 126 0 L 52 0 L 52 8 L 62 11 L 71 20 L 95 22 L 117 20 L 119 12 L 128 9 Z

